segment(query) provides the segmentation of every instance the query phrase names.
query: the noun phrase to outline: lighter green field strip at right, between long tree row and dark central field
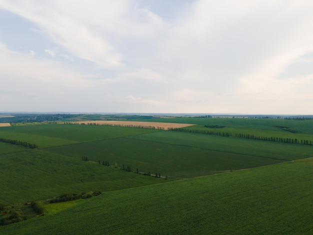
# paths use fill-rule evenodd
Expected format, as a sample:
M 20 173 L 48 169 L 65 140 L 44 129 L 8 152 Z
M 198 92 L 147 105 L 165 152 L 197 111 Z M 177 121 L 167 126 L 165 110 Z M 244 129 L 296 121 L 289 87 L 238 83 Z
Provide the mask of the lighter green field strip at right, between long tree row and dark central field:
M 311 145 L 288 144 L 176 131 L 155 132 L 145 135 L 130 136 L 129 138 L 283 160 L 309 157 L 313 154 Z

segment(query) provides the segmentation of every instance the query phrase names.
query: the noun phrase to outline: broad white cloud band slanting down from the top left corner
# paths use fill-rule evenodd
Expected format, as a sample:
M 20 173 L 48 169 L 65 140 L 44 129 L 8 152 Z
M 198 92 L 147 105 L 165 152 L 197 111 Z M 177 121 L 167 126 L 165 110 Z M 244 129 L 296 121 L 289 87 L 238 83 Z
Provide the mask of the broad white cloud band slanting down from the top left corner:
M 105 37 L 99 35 L 101 33 L 90 30 L 90 25 L 86 24 L 92 22 L 93 17 L 98 18 L 103 14 L 104 9 L 110 12 L 110 15 L 114 15 L 116 7 L 111 8 L 111 4 L 107 3 L 98 6 L 96 3 L 96 1 L 83 3 L 17 0 L 3 1 L 2 7 L 36 23 L 43 34 L 75 56 L 90 60 L 101 67 L 120 66 L 121 55 Z M 103 24 L 101 18 L 98 20 L 98 23 Z

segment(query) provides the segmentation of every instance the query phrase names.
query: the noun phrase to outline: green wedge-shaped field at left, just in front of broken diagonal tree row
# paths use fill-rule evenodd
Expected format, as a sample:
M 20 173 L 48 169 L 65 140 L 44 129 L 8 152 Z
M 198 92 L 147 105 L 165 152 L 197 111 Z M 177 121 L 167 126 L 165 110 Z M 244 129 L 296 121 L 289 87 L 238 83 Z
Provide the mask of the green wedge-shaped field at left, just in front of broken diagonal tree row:
M 163 180 L 36 149 L 0 157 L 0 201 L 6 204 L 63 193 L 116 190 Z

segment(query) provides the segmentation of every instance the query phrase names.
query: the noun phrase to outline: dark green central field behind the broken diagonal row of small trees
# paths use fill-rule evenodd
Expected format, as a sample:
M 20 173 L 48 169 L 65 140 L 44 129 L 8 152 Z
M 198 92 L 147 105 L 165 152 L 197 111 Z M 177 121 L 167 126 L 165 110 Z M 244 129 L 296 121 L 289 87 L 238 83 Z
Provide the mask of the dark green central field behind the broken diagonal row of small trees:
M 136 135 L 139 136 L 139 135 Z M 146 136 L 146 134 L 145 134 Z M 123 147 L 121 147 L 123 146 Z M 81 158 L 87 155 L 93 161 L 108 160 L 118 165 L 169 177 L 193 177 L 231 169 L 250 168 L 282 162 L 281 159 L 248 154 L 216 151 L 199 147 L 168 143 L 115 138 L 92 143 L 81 143 L 47 149 Z

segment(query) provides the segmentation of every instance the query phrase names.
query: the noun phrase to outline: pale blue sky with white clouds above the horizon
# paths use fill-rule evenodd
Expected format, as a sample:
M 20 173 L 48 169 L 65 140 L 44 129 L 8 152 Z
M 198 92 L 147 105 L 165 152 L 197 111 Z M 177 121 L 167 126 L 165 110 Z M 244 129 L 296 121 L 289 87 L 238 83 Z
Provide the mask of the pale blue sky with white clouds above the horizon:
M 312 0 L 0 0 L 0 112 L 313 114 Z

